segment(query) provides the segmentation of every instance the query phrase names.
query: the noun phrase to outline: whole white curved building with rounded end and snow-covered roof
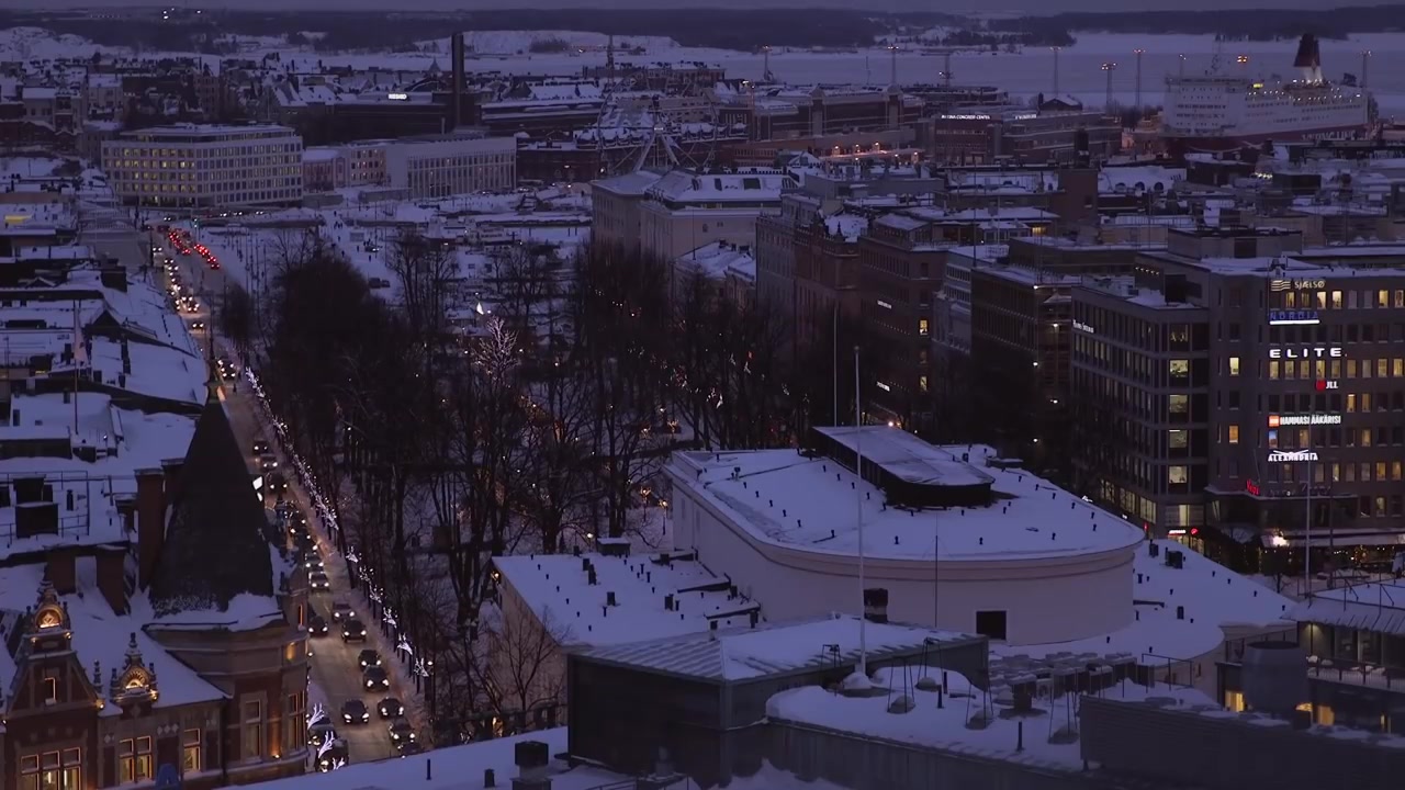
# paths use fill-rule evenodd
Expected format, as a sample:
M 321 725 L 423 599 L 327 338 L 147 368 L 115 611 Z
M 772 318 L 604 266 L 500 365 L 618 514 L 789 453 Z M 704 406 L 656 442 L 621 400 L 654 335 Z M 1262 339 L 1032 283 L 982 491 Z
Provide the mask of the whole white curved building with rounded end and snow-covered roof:
M 856 613 L 860 536 L 863 586 L 888 590 L 896 621 L 1047 645 L 1137 617 L 1139 529 L 1002 468 L 988 447 L 933 447 L 889 427 L 816 436 L 818 453 L 676 453 L 667 467 L 674 545 L 769 619 Z

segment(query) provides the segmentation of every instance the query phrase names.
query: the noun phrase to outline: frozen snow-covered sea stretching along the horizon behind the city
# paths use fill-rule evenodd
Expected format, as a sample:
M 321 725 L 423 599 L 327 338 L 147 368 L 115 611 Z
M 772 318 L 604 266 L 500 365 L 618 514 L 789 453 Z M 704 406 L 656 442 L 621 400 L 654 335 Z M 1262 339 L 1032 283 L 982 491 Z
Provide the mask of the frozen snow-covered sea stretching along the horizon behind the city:
M 1134 52 L 1142 55 L 1142 101 L 1158 104 L 1162 97 L 1163 77 L 1182 69 L 1200 73 L 1210 67 L 1215 42 L 1200 35 L 1127 35 L 1103 32 L 1078 32 L 1078 44 L 1059 55 L 1059 93 L 1072 94 L 1082 101 L 1102 105 L 1106 98 L 1106 62 L 1117 63 L 1113 70 L 1113 97 L 1120 104 L 1132 104 L 1137 97 L 1137 67 Z M 563 39 L 572 51 L 561 53 L 531 55 L 534 41 Z M 476 72 L 507 72 L 534 75 L 579 75 L 582 67 L 606 63 L 606 37 L 573 31 L 479 31 L 468 34 L 472 49 L 469 67 Z M 240 37 L 242 45 L 250 45 L 256 52 L 281 52 L 292 69 L 315 69 L 320 60 L 326 66 L 393 69 L 429 69 L 438 62 L 444 67 L 448 39 L 423 42 L 422 52 L 400 53 L 316 53 L 306 48 L 280 46 L 274 39 Z M 620 37 L 617 45 L 643 46 L 645 55 L 620 55 L 621 62 L 680 62 L 701 60 L 726 67 L 728 75 L 742 79 L 760 79 L 766 60 L 760 53 L 732 52 L 724 49 L 698 49 L 677 46 L 660 37 Z M 260 49 L 260 46 L 266 46 Z M 59 56 L 90 56 L 91 44 L 74 38 L 62 39 L 37 28 L 13 28 L 0 31 L 0 60 Z M 111 49 L 107 52 L 118 53 Z M 1294 41 L 1225 44 L 1221 60 L 1225 70 L 1243 69 L 1250 76 L 1281 75 L 1293 77 Z M 1363 75 L 1361 53 L 1370 51 L 1370 65 Z M 523 52 L 518 55 L 518 52 Z M 160 53 L 148 52 L 146 56 Z M 178 53 L 173 53 L 178 55 Z M 1248 55 L 1248 66 L 1239 66 L 1235 59 Z M 212 66 L 216 56 L 207 56 Z M 898 80 L 902 83 L 934 83 L 944 59 L 923 55 L 916 51 L 898 52 Z M 1360 34 L 1349 41 L 1322 42 L 1324 72 L 1329 79 L 1339 80 L 1343 73 L 1366 76 L 1370 90 L 1375 94 L 1384 114 L 1405 117 L 1405 34 Z M 892 69 L 889 52 L 881 46 L 858 52 L 811 52 L 778 48 L 771 52 L 770 67 L 781 82 L 804 83 L 887 83 Z M 961 52 L 953 56 L 951 70 L 957 83 L 998 84 L 1017 97 L 1031 97 L 1037 93 L 1054 93 L 1054 53 L 1044 48 L 1031 48 L 1017 53 Z

